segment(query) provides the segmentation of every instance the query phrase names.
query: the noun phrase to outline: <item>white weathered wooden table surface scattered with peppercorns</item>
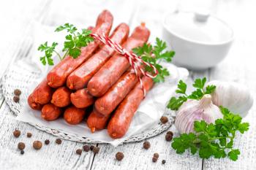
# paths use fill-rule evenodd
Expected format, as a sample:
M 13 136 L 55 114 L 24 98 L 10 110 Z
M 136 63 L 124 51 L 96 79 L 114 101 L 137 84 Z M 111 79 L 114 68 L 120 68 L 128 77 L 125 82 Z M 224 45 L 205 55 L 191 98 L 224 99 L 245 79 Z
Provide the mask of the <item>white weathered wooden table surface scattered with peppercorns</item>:
M 178 1 L 1 1 L 0 4 L 0 77 L 13 62 L 20 58 L 32 57 L 33 20 L 58 26 L 62 23 L 84 23 L 93 25 L 102 9 L 110 9 L 115 17 L 115 25 L 121 21 L 134 28 L 141 21 L 151 29 L 152 37 L 161 35 L 162 15 L 176 8 Z M 181 8 L 195 5 L 195 1 L 181 1 Z M 204 4 L 205 1 L 203 1 Z M 197 4 L 198 5 L 198 4 Z M 207 4 L 206 4 L 207 5 Z M 208 77 L 208 80 L 235 80 L 249 86 L 256 96 L 256 3 L 251 0 L 212 0 L 211 12 L 226 20 L 233 27 L 236 40 L 225 61 L 213 69 L 204 72 L 190 72 L 188 82 L 196 77 Z M 76 23 L 75 23 L 76 24 Z M 33 56 L 37 57 L 37 56 Z M 1 92 L 0 92 L 1 94 Z M 255 98 L 256 101 L 256 98 Z M 97 155 L 83 152 L 77 155 L 75 150 L 83 144 L 63 141 L 57 146 L 55 136 L 39 131 L 31 125 L 20 123 L 0 96 L 0 169 L 256 169 L 256 106 L 252 107 L 245 121 L 250 123 L 249 131 L 238 136 L 235 145 L 241 150 L 238 161 L 229 159 L 201 159 L 197 155 L 177 155 L 165 141 L 165 133 L 151 139 L 151 148 L 143 150 L 143 142 L 123 144 L 112 147 L 109 144 L 97 144 Z M 12 136 L 15 128 L 22 134 L 18 139 Z M 171 127 L 170 130 L 176 131 Z M 31 132 L 31 139 L 26 133 Z M 34 140 L 50 139 L 50 145 L 41 150 L 33 150 Z M 18 142 L 25 142 L 25 154 L 18 152 Z M 124 160 L 116 161 L 116 152 L 124 152 Z M 152 163 L 154 152 L 159 153 L 159 161 Z M 162 165 L 162 159 L 166 160 Z

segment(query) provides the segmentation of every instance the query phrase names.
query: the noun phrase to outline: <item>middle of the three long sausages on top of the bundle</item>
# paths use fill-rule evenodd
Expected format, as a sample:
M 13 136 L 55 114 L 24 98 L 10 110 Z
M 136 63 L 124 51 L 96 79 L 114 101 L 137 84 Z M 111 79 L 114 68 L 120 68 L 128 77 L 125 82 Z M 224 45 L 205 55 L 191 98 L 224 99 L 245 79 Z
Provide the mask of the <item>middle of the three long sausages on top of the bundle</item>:
M 113 31 L 110 39 L 118 44 L 123 43 L 129 34 L 129 26 L 126 23 L 121 23 Z M 108 61 L 115 50 L 108 45 L 103 46 L 96 54 L 91 56 L 88 61 L 83 63 L 78 69 L 72 72 L 67 77 L 67 87 L 69 89 L 79 90 L 86 87 L 87 83 L 93 75 Z

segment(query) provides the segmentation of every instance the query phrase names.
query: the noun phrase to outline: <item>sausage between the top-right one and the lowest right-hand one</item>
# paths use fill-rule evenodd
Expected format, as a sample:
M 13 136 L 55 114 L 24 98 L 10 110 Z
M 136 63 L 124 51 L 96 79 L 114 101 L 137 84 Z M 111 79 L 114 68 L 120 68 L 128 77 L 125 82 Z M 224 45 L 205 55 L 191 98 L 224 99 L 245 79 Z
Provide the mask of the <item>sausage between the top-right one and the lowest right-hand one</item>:
M 110 115 L 120 102 L 135 87 L 138 77 L 133 71 L 125 72 L 120 79 L 100 98 L 95 101 L 94 107 L 104 116 Z

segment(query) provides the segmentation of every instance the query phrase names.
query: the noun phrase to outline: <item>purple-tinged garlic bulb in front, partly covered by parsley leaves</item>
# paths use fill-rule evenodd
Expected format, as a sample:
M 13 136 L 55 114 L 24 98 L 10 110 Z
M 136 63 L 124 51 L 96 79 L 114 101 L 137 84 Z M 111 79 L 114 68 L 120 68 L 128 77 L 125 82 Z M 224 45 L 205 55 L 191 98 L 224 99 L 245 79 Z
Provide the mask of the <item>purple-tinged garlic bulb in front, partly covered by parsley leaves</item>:
M 219 107 L 211 101 L 211 95 L 206 94 L 200 101 L 188 100 L 176 112 L 175 125 L 180 133 L 194 131 L 196 120 L 205 120 L 206 123 L 214 123 L 215 120 L 222 118 Z

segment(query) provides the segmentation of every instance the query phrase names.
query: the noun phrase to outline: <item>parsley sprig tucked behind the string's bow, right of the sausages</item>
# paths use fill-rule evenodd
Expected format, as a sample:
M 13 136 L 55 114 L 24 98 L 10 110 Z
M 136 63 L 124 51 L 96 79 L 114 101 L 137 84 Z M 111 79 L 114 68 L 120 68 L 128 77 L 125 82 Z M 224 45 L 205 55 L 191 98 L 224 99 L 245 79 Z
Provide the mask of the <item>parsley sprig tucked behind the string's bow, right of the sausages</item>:
M 158 70 L 157 77 L 154 78 L 154 82 L 164 82 L 165 77 L 170 75 L 166 68 L 164 68 L 160 61 L 164 60 L 167 62 L 171 62 L 173 56 L 175 55 L 174 51 L 167 51 L 166 42 L 163 42 L 161 39 L 156 39 L 156 45 L 144 44 L 142 47 L 136 47 L 133 49 L 133 53 L 138 56 L 141 56 L 143 61 L 151 63 Z M 151 67 L 146 66 L 147 72 L 153 72 Z

